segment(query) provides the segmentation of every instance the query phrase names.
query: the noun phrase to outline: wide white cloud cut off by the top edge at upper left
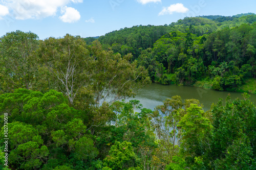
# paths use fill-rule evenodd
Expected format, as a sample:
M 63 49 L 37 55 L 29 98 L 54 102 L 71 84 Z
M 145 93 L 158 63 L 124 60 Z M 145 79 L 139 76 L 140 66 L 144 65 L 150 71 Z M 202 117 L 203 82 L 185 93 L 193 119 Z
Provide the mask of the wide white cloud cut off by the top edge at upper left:
M 2 0 L 15 19 L 40 19 L 55 16 L 60 8 L 69 3 L 82 3 L 82 0 Z

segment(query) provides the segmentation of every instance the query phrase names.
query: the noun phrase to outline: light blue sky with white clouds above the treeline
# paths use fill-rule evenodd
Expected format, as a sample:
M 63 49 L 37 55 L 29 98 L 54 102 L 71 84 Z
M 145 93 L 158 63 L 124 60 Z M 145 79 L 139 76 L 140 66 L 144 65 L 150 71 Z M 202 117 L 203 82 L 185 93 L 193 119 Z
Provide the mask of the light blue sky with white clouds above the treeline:
M 20 30 L 39 39 L 94 37 L 184 17 L 256 13 L 255 0 L 0 0 L 0 37 Z

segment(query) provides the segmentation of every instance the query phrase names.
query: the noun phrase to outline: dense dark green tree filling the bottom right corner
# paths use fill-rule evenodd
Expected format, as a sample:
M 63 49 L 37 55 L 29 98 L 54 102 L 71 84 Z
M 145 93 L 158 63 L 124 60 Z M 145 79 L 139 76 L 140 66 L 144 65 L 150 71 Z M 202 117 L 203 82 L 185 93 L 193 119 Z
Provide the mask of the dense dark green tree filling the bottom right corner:
M 208 156 L 215 161 L 216 169 L 253 169 L 255 165 L 256 108 L 249 95 L 243 100 L 220 100 L 212 109 L 212 150 Z

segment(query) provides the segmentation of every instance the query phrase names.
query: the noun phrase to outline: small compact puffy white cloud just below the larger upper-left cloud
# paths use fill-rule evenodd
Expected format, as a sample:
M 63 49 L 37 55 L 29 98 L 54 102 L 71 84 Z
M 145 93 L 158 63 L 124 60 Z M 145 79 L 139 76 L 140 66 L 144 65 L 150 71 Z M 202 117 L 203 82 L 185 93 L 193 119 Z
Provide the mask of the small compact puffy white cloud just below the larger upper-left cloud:
M 81 17 L 80 13 L 76 9 L 71 7 L 65 6 L 61 11 L 64 14 L 60 16 L 59 19 L 63 22 L 72 23 L 78 21 Z

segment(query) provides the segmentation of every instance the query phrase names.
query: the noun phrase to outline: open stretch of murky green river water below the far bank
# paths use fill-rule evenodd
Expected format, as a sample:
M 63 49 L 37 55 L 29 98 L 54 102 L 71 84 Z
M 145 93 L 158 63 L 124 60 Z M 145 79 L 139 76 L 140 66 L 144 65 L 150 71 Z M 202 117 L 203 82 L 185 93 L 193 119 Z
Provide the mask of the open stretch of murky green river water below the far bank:
M 193 86 L 177 86 L 177 85 L 161 85 L 152 83 L 140 89 L 135 96 L 136 100 L 139 100 L 144 108 L 152 109 L 157 105 L 162 105 L 166 98 L 172 98 L 174 95 L 180 95 L 183 100 L 185 99 L 197 99 L 204 105 L 204 110 L 209 110 L 212 103 L 217 103 L 219 98 L 226 99 L 228 94 L 231 94 L 231 99 L 243 99 L 240 92 L 229 91 L 216 91 L 212 89 L 202 89 Z M 251 102 L 256 104 L 256 95 L 250 94 Z M 128 99 L 132 100 L 132 99 Z

